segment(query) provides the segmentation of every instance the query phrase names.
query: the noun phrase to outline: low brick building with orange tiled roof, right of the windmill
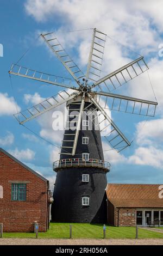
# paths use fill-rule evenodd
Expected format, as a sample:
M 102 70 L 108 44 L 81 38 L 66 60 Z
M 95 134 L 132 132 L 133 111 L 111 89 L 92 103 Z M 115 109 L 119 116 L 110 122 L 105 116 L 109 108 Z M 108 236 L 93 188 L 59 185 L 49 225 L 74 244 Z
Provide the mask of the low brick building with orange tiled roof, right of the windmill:
M 163 227 L 163 186 L 155 184 L 108 184 L 108 223 L 115 226 Z

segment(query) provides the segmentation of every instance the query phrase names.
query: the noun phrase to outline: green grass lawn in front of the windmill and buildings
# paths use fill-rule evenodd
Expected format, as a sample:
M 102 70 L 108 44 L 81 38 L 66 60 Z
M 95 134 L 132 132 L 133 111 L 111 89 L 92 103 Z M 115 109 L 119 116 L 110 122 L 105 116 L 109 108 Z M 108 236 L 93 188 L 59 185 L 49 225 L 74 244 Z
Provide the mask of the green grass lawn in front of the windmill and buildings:
M 71 223 L 72 238 L 103 238 L 103 225 Z M 70 223 L 51 223 L 47 232 L 39 233 L 39 238 L 68 238 Z M 4 233 L 7 238 L 34 238 L 34 233 Z M 135 238 L 135 227 L 111 227 L 106 225 L 106 238 Z M 139 238 L 162 238 L 163 234 L 139 228 Z

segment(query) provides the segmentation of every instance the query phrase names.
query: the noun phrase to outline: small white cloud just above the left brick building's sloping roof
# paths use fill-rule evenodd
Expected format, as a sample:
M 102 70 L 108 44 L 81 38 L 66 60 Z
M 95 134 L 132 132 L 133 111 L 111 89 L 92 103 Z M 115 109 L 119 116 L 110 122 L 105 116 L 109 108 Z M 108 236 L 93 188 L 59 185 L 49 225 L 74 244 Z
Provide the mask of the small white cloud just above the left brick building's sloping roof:
M 35 157 L 35 152 L 31 149 L 18 150 L 15 148 L 14 150 L 9 150 L 9 153 L 21 161 L 30 161 Z

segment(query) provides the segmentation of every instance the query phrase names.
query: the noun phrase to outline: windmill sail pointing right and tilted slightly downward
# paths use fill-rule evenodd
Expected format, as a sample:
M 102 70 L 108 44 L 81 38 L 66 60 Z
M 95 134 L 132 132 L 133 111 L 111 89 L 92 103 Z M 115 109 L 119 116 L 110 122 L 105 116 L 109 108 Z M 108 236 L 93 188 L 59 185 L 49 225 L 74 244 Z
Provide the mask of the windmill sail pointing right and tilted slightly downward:
M 99 105 L 103 108 L 131 114 L 154 117 L 158 102 L 137 99 L 119 94 L 97 92 Z

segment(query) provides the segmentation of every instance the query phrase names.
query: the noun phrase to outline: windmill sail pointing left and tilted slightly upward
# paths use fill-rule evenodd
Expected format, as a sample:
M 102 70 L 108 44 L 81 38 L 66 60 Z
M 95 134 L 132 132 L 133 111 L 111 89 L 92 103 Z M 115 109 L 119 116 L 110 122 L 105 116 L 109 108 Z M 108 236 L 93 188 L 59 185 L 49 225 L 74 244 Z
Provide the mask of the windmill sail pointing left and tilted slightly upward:
M 30 78 L 32 80 L 52 84 L 55 86 L 78 90 L 78 88 L 74 87 L 70 78 L 46 74 L 17 64 L 12 64 L 9 74 Z

